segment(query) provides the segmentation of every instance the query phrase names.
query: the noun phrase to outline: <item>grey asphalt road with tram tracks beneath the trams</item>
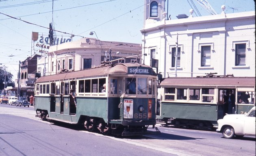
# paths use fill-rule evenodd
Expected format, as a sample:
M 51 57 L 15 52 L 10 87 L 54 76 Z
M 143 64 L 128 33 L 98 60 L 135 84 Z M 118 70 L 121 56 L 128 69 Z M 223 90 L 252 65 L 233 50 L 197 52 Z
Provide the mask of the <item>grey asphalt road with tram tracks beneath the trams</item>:
M 255 156 L 255 137 L 224 139 L 214 131 L 157 124 L 161 134 L 116 138 L 41 121 L 33 110 L 0 104 L 0 155 Z

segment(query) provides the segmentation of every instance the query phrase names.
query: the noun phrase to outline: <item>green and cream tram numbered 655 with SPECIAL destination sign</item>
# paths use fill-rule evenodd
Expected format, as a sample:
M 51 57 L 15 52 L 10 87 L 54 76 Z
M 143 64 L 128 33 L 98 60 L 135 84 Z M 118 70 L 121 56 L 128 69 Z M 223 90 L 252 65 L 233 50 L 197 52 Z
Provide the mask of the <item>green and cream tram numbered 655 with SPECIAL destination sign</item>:
M 131 82 L 135 93 L 129 91 Z M 122 136 L 144 134 L 156 124 L 156 73 L 147 65 L 102 65 L 43 76 L 35 85 L 35 108 L 42 119 Z

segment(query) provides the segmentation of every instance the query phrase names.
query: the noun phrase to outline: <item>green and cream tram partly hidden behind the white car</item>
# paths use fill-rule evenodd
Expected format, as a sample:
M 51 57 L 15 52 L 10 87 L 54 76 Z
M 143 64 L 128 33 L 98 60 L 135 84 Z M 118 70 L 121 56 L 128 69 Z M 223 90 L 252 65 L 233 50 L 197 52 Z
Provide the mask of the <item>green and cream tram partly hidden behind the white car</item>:
M 255 106 L 255 77 L 165 78 L 159 86 L 157 119 L 178 127 L 217 127 L 224 115 L 244 114 Z M 234 106 L 228 112 L 230 92 Z

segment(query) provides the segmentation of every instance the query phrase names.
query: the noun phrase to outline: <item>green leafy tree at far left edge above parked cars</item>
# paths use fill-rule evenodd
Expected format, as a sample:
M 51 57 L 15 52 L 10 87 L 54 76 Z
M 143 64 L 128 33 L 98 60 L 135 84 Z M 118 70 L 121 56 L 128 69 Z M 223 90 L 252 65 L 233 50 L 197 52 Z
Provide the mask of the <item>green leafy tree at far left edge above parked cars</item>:
M 6 66 L 0 66 L 0 90 L 4 89 L 4 75 L 6 74 L 6 86 L 15 87 L 15 83 L 13 82 L 13 74 L 7 72 Z

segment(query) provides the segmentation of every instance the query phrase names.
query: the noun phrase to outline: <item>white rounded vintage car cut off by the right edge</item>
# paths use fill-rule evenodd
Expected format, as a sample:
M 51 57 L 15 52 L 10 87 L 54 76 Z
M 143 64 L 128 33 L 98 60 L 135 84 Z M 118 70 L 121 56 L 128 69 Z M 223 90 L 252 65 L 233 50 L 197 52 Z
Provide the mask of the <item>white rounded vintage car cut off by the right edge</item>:
M 247 114 L 225 115 L 218 120 L 217 132 L 221 132 L 224 138 L 255 136 L 255 106 Z

